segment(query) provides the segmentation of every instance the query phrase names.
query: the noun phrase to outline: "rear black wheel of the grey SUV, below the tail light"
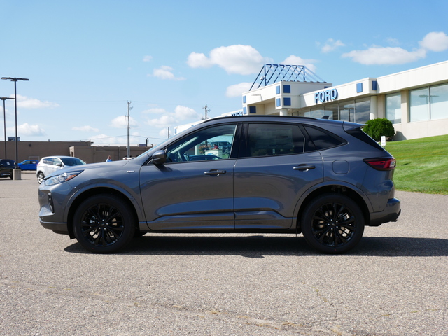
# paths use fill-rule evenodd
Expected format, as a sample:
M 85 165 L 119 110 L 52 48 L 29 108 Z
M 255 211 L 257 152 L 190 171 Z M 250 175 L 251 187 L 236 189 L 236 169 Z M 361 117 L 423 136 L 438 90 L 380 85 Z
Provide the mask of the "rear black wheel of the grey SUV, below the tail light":
M 351 198 L 324 194 L 312 200 L 304 210 L 302 233 L 312 248 L 338 254 L 349 251 L 363 237 L 363 211 Z

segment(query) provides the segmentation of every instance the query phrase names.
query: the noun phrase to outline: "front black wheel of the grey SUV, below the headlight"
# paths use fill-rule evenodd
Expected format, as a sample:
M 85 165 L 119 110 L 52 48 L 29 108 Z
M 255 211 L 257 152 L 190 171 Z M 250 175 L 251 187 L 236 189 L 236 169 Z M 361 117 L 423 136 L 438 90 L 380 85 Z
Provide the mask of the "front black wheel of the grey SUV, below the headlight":
M 76 209 L 73 232 L 79 244 L 88 251 L 113 253 L 124 248 L 134 237 L 134 214 L 120 197 L 95 195 Z

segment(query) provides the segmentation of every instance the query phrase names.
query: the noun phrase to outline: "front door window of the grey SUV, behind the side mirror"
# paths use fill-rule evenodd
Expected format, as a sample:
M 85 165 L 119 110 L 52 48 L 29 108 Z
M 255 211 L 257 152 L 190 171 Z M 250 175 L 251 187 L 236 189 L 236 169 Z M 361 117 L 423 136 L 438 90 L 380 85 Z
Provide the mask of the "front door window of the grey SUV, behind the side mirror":
M 221 160 L 230 158 L 237 124 L 209 127 L 167 148 L 167 162 Z

